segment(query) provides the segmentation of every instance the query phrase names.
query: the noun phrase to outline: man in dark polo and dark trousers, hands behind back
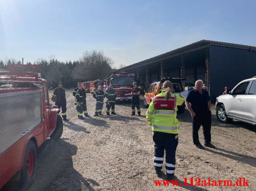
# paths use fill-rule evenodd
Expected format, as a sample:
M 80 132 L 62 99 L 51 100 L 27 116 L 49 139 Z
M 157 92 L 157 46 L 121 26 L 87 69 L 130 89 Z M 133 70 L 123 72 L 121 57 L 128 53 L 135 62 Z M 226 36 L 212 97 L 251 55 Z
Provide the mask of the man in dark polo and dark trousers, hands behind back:
M 203 81 L 196 80 L 195 90 L 192 90 L 188 93 L 188 97 L 185 103 L 192 117 L 193 142 L 199 149 L 205 149 L 205 147 L 202 146 L 199 142 L 198 137 L 198 131 L 200 127 L 203 126 L 205 146 L 215 148 L 215 146 L 211 144 L 212 112 L 210 96 L 207 90 L 202 88 Z

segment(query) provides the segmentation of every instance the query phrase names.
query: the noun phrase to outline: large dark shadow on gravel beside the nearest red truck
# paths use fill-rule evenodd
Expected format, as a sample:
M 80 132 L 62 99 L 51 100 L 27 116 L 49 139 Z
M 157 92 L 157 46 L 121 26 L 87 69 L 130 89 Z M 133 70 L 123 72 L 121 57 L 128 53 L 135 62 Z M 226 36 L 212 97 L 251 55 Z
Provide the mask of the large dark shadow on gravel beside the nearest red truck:
M 90 184 L 99 186 L 93 179 L 85 179 L 73 168 L 72 156 L 77 146 L 63 139 L 48 139 L 38 149 L 38 160 L 34 183 L 28 191 L 90 190 Z

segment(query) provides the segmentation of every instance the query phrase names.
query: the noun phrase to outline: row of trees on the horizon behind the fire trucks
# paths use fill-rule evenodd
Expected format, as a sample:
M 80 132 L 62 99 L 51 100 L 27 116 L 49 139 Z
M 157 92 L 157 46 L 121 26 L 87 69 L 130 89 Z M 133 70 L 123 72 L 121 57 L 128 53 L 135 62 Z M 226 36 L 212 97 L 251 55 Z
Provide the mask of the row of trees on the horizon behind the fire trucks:
M 112 71 L 113 60 L 107 57 L 102 50 L 92 50 L 84 52 L 83 56 L 77 61 L 61 62 L 60 60 L 38 59 L 37 64 L 41 77 L 49 82 L 49 87 L 57 87 L 58 82 L 63 82 L 65 88 L 75 87 L 77 82 L 86 82 L 97 79 L 105 79 Z M 0 68 L 9 70 L 10 64 L 21 64 L 20 60 L 6 59 L 5 62 L 0 60 Z

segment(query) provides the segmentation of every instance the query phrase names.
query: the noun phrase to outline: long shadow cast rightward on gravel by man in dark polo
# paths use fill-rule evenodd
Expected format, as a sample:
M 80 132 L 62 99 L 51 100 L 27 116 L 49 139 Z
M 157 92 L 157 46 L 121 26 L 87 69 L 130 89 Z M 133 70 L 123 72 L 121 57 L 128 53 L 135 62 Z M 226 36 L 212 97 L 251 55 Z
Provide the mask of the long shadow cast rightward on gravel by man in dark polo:
M 237 152 L 233 152 L 233 151 L 227 151 L 225 149 L 221 149 L 221 148 L 215 148 L 215 150 L 218 150 L 218 151 L 222 151 L 222 152 L 218 152 L 218 151 L 215 151 L 215 150 L 211 150 L 211 149 L 205 149 L 206 151 L 209 151 L 209 152 L 212 152 L 214 154 L 218 154 L 220 156 L 225 156 L 227 158 L 230 158 L 232 160 L 235 160 L 235 161 L 239 161 L 241 163 L 244 163 L 244 164 L 249 164 L 250 166 L 253 166 L 253 167 L 256 167 L 256 157 L 253 157 L 253 156 L 247 156 L 245 154 L 239 154 Z

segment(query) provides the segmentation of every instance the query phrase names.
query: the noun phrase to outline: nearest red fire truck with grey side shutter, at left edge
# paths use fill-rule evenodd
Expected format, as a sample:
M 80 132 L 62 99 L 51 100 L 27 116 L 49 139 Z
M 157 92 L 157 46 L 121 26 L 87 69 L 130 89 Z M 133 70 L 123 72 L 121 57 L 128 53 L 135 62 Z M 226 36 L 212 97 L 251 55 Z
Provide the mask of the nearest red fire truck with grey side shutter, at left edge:
M 17 72 L 19 68 L 35 72 Z M 63 131 L 60 110 L 51 106 L 48 82 L 37 65 L 10 65 L 0 72 L 0 189 L 12 178 L 27 189 L 36 170 L 37 149 Z

